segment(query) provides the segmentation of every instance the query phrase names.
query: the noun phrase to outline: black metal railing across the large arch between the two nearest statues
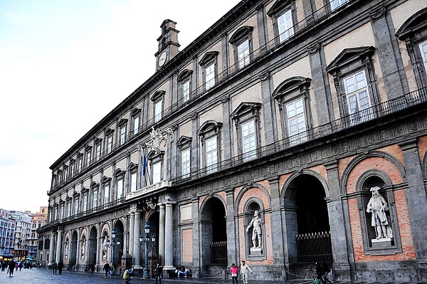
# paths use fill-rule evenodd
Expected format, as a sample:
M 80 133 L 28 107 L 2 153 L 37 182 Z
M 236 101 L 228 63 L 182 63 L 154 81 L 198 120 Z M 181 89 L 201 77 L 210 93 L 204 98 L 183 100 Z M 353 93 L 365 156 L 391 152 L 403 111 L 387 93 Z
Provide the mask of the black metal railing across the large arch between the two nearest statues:
M 330 232 L 301 233 L 295 241 L 298 262 L 333 261 Z

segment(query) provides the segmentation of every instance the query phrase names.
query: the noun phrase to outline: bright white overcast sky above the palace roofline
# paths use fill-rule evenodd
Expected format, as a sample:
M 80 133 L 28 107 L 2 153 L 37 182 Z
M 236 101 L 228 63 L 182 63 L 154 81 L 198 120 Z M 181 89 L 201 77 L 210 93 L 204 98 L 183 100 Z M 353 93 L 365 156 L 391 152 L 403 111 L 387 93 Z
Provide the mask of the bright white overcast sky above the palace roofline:
M 0 208 L 47 206 L 53 162 L 237 0 L 0 0 Z

